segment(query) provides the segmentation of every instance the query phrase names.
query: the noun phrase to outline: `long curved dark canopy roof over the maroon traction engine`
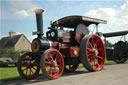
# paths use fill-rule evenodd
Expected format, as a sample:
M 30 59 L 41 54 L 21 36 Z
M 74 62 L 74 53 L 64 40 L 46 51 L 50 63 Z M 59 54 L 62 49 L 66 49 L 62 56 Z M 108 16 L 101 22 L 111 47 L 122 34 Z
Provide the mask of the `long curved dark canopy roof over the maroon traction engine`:
M 63 26 L 68 28 L 75 28 L 78 24 L 84 24 L 89 26 L 90 24 L 107 24 L 106 20 L 95 19 L 85 16 L 67 16 L 61 19 L 58 19 L 52 23 L 52 25 Z

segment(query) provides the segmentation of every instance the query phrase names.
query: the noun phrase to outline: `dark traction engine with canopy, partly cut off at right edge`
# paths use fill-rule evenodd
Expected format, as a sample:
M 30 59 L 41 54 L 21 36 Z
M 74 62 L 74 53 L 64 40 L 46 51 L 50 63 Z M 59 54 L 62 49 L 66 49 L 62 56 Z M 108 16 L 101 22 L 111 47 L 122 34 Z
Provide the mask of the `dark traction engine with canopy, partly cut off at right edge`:
M 107 60 L 113 60 L 117 64 L 125 63 L 128 59 L 128 42 L 125 36 L 128 34 L 128 30 L 120 32 L 103 33 L 105 38 L 123 36 L 124 41 L 118 41 L 111 47 L 106 46 Z

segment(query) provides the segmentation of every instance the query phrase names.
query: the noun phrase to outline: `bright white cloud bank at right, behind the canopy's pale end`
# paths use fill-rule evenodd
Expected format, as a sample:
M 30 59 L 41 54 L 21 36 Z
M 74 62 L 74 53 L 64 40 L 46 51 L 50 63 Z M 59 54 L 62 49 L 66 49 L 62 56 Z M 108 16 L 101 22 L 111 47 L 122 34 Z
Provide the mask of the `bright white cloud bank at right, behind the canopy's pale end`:
M 107 20 L 107 25 L 99 26 L 99 31 L 103 33 L 128 30 L 128 1 L 118 9 L 98 8 L 96 10 L 89 10 L 85 15 Z M 128 40 L 128 36 L 126 36 L 126 39 Z M 119 37 L 109 40 L 114 43 L 119 40 Z

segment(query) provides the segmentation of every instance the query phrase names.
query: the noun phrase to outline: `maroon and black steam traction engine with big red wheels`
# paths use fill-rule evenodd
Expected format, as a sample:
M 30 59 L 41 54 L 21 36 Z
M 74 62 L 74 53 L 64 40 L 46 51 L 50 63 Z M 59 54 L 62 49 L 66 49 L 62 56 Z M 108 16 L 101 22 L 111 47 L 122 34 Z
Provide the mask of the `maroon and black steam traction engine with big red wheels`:
M 32 41 L 32 52 L 20 56 L 19 74 L 25 79 L 35 78 L 40 71 L 48 79 L 61 76 L 63 71 L 73 72 L 80 63 L 91 72 L 99 71 L 105 62 L 105 48 L 96 34 L 89 35 L 88 26 L 99 23 L 99 20 L 84 16 L 68 16 L 53 23 L 43 37 L 42 9 L 37 9 L 37 34 Z

